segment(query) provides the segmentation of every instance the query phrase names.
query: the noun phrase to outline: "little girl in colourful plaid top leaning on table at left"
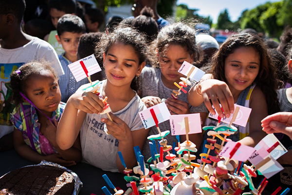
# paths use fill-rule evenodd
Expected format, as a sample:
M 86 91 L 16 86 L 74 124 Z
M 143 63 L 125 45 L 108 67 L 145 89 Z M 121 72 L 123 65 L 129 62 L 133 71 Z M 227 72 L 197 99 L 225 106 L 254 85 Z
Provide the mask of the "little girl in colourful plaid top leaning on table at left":
M 17 105 L 11 114 L 14 147 L 30 161 L 52 161 L 71 166 L 81 160 L 78 139 L 67 150 L 56 143 L 56 126 L 65 104 L 61 101 L 58 79 L 51 64 L 30 62 L 10 75 L 13 100 Z

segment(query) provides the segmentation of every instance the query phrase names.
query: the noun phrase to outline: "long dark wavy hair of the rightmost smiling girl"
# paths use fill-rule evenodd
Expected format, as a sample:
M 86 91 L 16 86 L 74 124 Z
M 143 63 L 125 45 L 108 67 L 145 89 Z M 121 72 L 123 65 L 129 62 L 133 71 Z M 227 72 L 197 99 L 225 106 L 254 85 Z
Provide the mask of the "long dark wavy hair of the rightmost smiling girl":
M 279 81 L 275 76 L 275 67 L 268 55 L 267 48 L 257 35 L 238 34 L 226 39 L 212 59 L 213 77 L 226 82 L 225 59 L 240 47 L 253 47 L 258 52 L 260 67 L 254 82 L 265 95 L 269 115 L 278 112 L 279 102 L 275 90 Z

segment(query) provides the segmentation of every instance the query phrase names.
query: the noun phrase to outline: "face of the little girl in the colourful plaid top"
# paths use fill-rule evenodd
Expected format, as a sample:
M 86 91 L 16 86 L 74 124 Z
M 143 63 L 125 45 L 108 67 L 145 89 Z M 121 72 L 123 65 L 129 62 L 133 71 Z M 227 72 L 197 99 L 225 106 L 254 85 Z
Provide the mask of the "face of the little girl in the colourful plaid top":
M 50 115 L 58 108 L 61 92 L 58 81 L 53 73 L 43 70 L 39 75 L 33 75 L 26 81 L 25 94 L 44 114 Z

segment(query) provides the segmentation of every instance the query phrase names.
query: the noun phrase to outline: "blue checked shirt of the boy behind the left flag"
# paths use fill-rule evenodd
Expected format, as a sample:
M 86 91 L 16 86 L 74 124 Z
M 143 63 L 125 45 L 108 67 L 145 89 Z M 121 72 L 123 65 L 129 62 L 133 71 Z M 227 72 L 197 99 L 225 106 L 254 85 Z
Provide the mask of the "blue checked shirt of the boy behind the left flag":
M 65 72 L 65 74 L 62 75 L 59 79 L 59 86 L 62 95 L 61 101 L 67 102 L 70 96 L 74 94 L 81 85 L 89 83 L 89 80 L 88 78 L 84 78 L 79 82 L 76 82 L 72 72 L 68 67 L 68 65 L 72 62 L 69 59 L 65 58 L 64 54 L 59 55 L 58 57 Z

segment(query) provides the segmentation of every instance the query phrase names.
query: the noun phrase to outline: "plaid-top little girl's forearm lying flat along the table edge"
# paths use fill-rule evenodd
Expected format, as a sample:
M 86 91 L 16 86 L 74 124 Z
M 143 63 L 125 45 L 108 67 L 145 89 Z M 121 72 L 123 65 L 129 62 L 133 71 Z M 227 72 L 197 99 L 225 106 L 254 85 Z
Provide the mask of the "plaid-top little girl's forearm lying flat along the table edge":
M 22 132 L 14 129 L 13 132 L 13 141 L 14 141 L 14 148 L 16 152 L 22 156 L 23 158 L 30 160 L 35 163 L 40 163 L 41 160 L 51 161 L 58 163 L 63 166 L 72 166 L 76 163 L 73 160 L 63 160 L 60 159 L 59 154 L 49 155 L 49 156 L 41 156 L 36 151 L 34 151 L 29 145 L 27 145 L 22 137 Z

